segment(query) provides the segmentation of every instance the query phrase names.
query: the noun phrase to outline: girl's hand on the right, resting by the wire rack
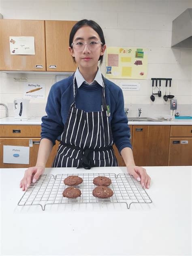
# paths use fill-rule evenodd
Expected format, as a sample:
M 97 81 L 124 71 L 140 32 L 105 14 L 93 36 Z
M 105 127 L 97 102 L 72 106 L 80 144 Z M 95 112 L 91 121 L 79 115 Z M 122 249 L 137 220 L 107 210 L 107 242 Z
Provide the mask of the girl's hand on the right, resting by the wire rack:
M 149 175 L 147 175 L 145 168 L 141 166 L 128 165 L 127 171 L 129 174 L 133 175 L 135 179 L 141 181 L 141 185 L 144 189 L 149 188 L 151 178 L 149 177 Z

